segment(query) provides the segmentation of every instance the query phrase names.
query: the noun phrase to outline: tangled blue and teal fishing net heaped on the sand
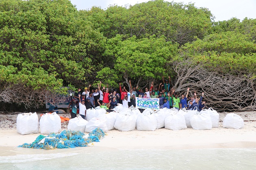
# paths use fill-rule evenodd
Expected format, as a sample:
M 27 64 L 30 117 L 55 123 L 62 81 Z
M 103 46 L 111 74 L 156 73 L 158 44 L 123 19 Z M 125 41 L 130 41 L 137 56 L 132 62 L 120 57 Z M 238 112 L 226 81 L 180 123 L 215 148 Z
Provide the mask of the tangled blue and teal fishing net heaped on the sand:
M 60 134 L 39 135 L 33 143 L 24 143 L 18 147 L 46 150 L 87 147 L 91 142 L 100 142 L 100 139 L 104 138 L 105 133 L 100 128 L 97 128 L 89 133 L 87 139 L 84 138 L 84 135 L 83 132 L 79 131 L 63 130 Z

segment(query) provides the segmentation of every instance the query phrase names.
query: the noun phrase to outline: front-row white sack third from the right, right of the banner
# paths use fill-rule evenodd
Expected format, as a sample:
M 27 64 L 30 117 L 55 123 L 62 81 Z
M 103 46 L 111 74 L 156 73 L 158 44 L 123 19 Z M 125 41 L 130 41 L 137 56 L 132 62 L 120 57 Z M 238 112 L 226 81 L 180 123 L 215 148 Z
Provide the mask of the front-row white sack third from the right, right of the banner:
M 165 128 L 170 130 L 186 129 L 186 121 L 181 113 L 167 114 L 165 117 Z

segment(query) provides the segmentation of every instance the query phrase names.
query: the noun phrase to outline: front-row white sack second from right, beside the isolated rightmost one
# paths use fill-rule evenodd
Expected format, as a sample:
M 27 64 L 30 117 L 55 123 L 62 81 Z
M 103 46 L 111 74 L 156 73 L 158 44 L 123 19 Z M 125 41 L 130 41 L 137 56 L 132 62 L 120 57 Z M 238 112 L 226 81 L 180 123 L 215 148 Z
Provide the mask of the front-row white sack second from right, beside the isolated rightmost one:
M 192 128 L 195 130 L 211 130 L 213 126 L 209 114 L 193 114 L 189 120 Z

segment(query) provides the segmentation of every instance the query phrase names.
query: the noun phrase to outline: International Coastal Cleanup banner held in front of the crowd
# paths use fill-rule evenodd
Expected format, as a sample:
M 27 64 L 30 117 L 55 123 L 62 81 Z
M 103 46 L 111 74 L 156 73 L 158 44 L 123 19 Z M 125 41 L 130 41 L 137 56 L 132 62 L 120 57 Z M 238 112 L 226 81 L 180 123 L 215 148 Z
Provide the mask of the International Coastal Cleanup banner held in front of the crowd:
M 158 98 L 136 98 L 136 108 L 155 108 L 160 109 Z

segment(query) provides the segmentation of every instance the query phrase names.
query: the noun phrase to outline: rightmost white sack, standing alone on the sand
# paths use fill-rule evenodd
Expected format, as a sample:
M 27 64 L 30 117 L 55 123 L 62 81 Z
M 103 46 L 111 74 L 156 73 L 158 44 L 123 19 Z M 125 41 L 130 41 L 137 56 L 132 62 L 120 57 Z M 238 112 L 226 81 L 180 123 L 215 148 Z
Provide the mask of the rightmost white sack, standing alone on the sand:
M 223 119 L 223 127 L 232 129 L 241 129 L 244 127 L 243 119 L 234 113 L 229 113 Z

